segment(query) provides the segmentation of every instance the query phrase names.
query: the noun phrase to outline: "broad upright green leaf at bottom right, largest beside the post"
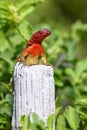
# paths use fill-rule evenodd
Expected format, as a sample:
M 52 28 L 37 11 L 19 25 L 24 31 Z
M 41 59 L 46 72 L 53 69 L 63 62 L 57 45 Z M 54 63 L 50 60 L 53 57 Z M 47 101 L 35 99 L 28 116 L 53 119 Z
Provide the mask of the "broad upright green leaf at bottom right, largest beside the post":
M 76 112 L 76 110 L 73 107 L 68 106 L 65 109 L 64 117 L 66 118 L 67 122 L 69 123 L 69 126 L 73 130 L 77 130 L 78 129 L 80 118 L 79 118 L 79 114 Z

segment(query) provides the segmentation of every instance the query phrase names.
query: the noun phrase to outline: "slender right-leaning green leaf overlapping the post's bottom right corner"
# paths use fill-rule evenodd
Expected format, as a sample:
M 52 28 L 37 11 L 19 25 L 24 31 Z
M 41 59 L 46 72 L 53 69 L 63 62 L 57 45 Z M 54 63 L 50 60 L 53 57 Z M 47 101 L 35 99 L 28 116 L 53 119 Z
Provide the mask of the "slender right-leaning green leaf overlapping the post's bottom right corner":
M 47 126 L 48 126 L 49 130 L 53 129 L 54 121 L 55 121 L 55 119 L 56 119 L 56 117 L 57 117 L 57 115 L 59 114 L 60 111 L 61 111 L 61 107 L 57 108 L 55 110 L 55 112 L 48 117 Z

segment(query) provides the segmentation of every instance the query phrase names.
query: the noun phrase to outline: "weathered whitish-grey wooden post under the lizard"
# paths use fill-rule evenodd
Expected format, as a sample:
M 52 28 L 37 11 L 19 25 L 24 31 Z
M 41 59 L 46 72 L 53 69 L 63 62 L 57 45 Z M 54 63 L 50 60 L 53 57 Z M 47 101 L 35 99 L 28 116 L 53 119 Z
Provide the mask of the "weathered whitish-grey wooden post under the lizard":
M 45 65 L 25 66 L 14 70 L 14 108 L 12 130 L 18 130 L 20 117 L 35 112 L 46 122 L 55 111 L 53 68 Z

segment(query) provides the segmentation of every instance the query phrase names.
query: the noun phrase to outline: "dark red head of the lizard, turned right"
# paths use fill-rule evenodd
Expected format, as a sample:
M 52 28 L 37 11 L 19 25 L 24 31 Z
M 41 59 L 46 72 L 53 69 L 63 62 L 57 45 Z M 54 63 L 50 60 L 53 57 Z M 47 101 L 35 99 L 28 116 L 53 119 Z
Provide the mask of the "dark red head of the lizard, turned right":
M 32 35 L 31 39 L 29 40 L 29 43 L 41 44 L 42 41 L 49 35 L 51 35 L 51 32 L 47 28 L 44 28 L 42 30 L 35 32 Z

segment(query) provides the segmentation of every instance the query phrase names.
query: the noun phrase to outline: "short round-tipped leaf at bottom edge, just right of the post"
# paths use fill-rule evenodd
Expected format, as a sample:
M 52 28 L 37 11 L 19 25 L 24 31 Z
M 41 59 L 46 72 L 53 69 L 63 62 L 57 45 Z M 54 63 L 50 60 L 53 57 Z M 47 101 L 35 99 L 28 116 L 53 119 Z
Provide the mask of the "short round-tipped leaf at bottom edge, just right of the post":
M 59 115 L 57 118 L 56 130 L 66 130 L 65 118 L 63 115 Z

